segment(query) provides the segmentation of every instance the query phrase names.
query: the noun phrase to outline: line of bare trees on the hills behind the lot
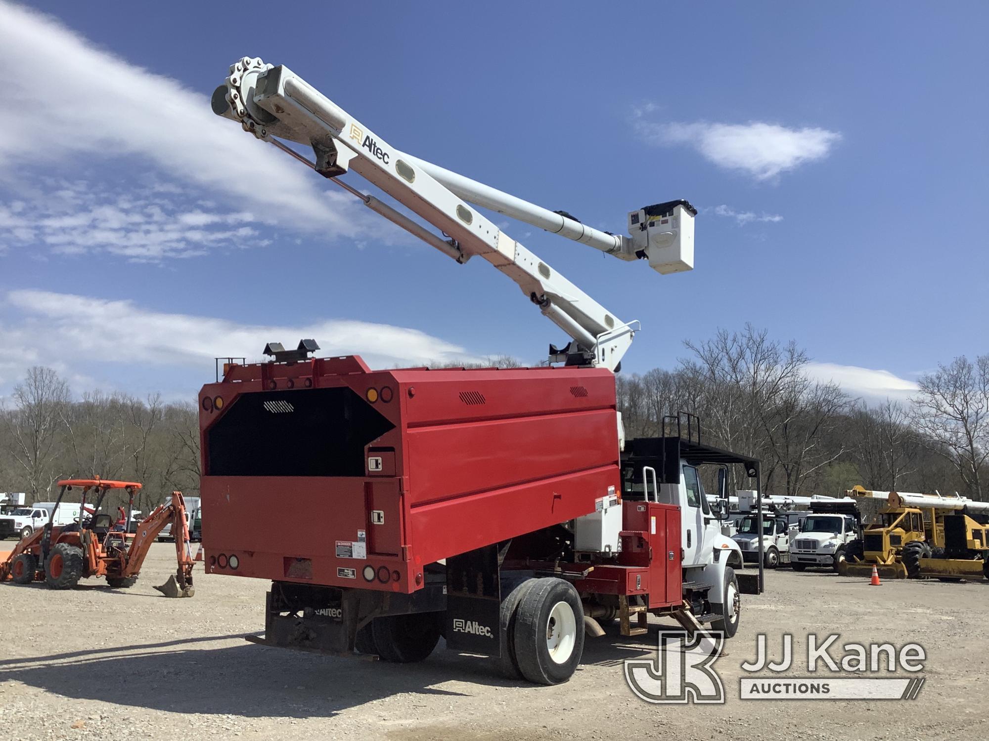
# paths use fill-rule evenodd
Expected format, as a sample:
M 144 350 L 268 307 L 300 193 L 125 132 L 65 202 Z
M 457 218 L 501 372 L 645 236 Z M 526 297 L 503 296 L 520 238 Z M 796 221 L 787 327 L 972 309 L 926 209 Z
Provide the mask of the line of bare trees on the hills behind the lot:
M 684 349 L 671 371 L 617 374 L 627 437 L 670 434 L 664 420 L 689 412 L 704 443 L 760 458 L 769 494 L 835 496 L 858 483 L 989 496 L 989 355 L 939 366 L 909 400 L 866 404 L 815 380 L 795 342 L 751 325 Z M 0 409 L 0 491 L 27 492 L 30 504 L 52 498 L 60 478 L 96 474 L 144 484 L 136 500 L 144 512 L 173 490 L 199 492 L 192 403 L 100 391 L 76 398 L 48 368 L 28 371 L 12 402 Z

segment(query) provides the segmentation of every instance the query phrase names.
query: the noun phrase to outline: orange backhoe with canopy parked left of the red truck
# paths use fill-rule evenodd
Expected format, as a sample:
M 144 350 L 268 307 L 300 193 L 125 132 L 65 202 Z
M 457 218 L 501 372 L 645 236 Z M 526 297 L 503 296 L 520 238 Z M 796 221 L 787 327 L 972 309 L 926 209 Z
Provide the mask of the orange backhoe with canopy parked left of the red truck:
M 148 548 L 158 533 L 171 524 L 175 535 L 175 551 L 178 569 L 160 587 L 155 587 L 165 597 L 192 597 L 192 568 L 194 561 L 189 552 L 189 528 L 186 523 L 185 500 L 182 493 L 172 492 L 170 502 L 156 508 L 144 520 L 131 527 L 130 514 L 122 525 L 115 523 L 100 507 L 111 489 L 125 489 L 134 504 L 135 492 L 140 484 L 134 481 L 109 481 L 100 478 L 67 479 L 59 481 L 56 507 L 67 491 L 82 489 L 82 517 L 72 525 L 52 525 L 53 513 L 45 527 L 21 540 L 0 563 L 0 582 L 12 580 L 15 584 L 44 581 L 52 589 L 71 589 L 80 579 L 105 576 L 107 584 L 115 589 L 126 589 L 137 581 L 141 564 Z M 95 499 L 91 507 L 87 499 Z M 86 517 L 86 513 L 92 515 Z M 128 507 L 128 513 L 132 507 Z M 131 533 L 131 530 L 135 530 Z

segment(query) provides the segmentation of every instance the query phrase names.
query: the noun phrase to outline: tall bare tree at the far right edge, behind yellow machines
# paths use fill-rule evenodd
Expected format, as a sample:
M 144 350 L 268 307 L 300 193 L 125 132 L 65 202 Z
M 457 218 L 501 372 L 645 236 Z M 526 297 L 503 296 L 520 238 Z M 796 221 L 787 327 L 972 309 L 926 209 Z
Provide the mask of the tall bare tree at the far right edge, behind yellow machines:
M 989 355 L 955 358 L 921 376 L 914 421 L 930 450 L 951 461 L 966 493 L 982 499 L 989 460 Z

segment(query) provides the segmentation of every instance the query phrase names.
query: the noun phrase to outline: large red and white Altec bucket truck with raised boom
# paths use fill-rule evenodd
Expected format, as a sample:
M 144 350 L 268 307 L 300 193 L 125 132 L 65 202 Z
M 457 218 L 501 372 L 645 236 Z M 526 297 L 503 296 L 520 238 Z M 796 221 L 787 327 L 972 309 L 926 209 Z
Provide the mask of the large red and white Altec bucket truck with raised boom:
M 614 372 L 622 321 L 494 225 L 477 206 L 660 273 L 690 270 L 695 210 L 629 212 L 629 235 L 584 225 L 396 149 L 285 66 L 244 57 L 213 98 L 232 119 L 460 264 L 481 257 L 571 338 L 527 369 L 373 371 L 269 343 L 268 361 L 226 359 L 199 395 L 207 569 L 271 580 L 251 640 L 308 651 L 424 659 L 448 648 L 509 674 L 568 680 L 584 632 L 649 615 L 735 634 L 745 578 L 699 468 L 759 461 L 704 445 L 696 418 L 624 440 Z M 315 161 L 287 142 L 310 148 Z M 438 228 L 366 195 L 355 172 Z M 458 311 L 467 316 L 469 310 Z M 219 368 L 218 361 L 218 368 Z M 273 533 L 275 499 L 306 513 Z

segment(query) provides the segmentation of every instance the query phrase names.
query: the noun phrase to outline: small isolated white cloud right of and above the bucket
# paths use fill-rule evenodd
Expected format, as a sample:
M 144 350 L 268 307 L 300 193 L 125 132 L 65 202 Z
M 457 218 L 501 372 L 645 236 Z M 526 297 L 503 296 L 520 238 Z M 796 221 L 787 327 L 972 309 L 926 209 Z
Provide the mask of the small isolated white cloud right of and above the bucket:
M 778 124 L 658 123 L 647 119 L 655 111 L 633 112 L 633 124 L 648 143 L 686 144 L 705 159 L 729 170 L 742 170 L 756 180 L 771 180 L 807 162 L 824 159 L 841 138 L 825 128 L 787 128 Z

